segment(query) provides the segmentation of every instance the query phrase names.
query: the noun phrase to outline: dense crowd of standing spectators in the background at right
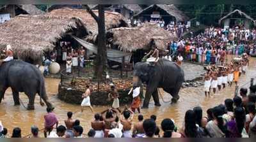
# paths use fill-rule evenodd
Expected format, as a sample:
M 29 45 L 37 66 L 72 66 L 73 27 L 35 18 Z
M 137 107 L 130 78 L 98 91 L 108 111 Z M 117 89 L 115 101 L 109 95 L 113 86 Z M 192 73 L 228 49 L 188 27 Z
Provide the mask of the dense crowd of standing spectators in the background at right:
M 168 43 L 170 54 L 202 64 L 220 64 L 227 60 L 227 54 L 253 55 L 256 50 L 256 30 L 243 27 L 205 29 L 191 38 L 180 38 Z

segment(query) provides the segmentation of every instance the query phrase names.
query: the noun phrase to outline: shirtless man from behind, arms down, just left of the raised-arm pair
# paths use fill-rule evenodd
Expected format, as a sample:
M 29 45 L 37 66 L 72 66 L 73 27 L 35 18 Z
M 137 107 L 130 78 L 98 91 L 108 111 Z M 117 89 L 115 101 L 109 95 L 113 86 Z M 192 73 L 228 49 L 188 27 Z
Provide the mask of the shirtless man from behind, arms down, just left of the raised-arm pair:
M 92 122 L 92 129 L 95 131 L 94 138 L 104 138 L 105 122 L 100 121 L 100 114 L 94 115 L 95 120 Z

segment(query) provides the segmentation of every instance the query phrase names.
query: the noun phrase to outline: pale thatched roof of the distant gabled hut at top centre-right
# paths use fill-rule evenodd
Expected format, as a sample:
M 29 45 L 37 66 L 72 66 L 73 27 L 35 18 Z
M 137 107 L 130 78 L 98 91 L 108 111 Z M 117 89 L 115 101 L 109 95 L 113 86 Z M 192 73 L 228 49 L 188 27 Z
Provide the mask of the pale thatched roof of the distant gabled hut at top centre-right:
M 156 8 L 159 8 L 160 10 L 165 11 L 168 15 L 175 17 L 178 22 L 189 20 L 189 18 L 173 4 L 153 4 L 140 11 L 140 13 L 134 15 L 134 17 L 139 17 L 140 15 L 143 15 L 144 13 L 147 13 L 148 11 L 154 10 Z

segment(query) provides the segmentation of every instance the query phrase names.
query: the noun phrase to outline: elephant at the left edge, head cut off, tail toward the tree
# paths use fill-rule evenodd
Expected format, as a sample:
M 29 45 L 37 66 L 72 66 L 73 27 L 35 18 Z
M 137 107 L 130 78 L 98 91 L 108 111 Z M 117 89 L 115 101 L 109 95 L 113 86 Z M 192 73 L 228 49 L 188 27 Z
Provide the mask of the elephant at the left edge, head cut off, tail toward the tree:
M 44 100 L 47 108 L 54 109 L 49 102 L 46 91 L 44 76 L 33 64 L 22 60 L 11 60 L 0 66 L 0 103 L 8 87 L 12 89 L 14 105 L 20 105 L 19 92 L 24 92 L 29 98 L 27 110 L 34 110 L 35 96 L 40 96 L 40 104 Z

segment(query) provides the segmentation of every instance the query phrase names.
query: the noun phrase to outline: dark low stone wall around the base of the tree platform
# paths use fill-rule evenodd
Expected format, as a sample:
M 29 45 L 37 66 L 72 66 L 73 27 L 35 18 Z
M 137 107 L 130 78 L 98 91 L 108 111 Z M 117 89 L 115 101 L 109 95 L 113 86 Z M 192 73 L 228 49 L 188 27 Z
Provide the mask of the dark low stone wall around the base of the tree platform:
M 129 90 L 118 90 L 120 105 L 131 104 L 132 96 L 128 95 Z M 83 101 L 82 94 L 79 90 L 74 90 L 63 85 L 59 85 L 58 98 L 61 101 L 65 101 L 70 104 L 81 104 Z M 112 100 L 108 100 L 109 92 L 92 92 L 90 96 L 91 104 L 97 106 L 106 106 L 113 103 Z

